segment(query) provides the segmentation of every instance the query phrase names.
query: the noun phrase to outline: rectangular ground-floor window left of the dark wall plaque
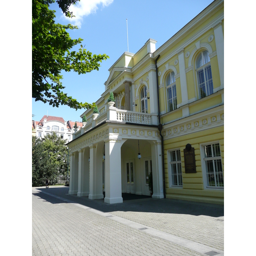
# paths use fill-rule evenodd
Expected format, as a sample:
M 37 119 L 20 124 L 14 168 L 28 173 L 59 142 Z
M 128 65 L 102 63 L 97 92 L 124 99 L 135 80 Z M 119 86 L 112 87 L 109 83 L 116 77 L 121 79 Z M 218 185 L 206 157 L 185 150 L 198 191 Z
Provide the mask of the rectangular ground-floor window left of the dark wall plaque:
M 170 151 L 172 186 L 182 186 L 180 149 Z

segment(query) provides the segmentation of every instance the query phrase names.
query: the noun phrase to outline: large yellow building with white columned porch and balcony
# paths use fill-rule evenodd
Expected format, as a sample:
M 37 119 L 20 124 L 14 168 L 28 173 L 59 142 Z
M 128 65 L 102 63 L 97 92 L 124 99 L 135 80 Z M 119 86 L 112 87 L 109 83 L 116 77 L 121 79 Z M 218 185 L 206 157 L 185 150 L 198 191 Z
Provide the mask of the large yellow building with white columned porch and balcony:
M 81 115 L 88 122 L 68 143 L 69 193 L 97 199 L 104 188 L 106 203 L 120 203 L 122 193 L 150 195 L 152 172 L 154 198 L 223 204 L 224 1 L 156 43 L 124 52 L 99 113 Z

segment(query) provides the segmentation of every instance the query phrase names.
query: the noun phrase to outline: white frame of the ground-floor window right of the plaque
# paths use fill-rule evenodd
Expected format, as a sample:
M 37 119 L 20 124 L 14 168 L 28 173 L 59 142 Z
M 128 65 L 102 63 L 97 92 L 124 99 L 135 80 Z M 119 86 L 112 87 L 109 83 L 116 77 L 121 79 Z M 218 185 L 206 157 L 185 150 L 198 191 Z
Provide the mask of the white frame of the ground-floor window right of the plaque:
M 212 146 L 213 144 L 219 144 L 219 141 L 213 141 L 213 142 L 208 142 L 208 143 L 200 144 L 201 163 L 202 163 L 202 175 L 203 175 L 203 181 L 204 181 L 204 189 L 224 190 L 224 186 L 209 186 L 208 185 L 206 161 L 207 160 L 221 160 L 221 169 L 222 169 L 222 158 L 221 158 L 221 155 L 217 156 L 217 157 L 205 157 L 204 146 L 207 146 L 207 145 L 211 145 Z M 221 147 L 221 145 L 219 145 L 219 146 Z M 220 153 L 221 153 L 221 151 L 220 151 Z M 213 164 L 213 168 L 214 168 L 214 173 L 215 173 L 215 166 L 214 166 L 214 164 Z M 222 169 L 222 177 L 223 177 L 223 183 L 224 183 L 223 169 Z

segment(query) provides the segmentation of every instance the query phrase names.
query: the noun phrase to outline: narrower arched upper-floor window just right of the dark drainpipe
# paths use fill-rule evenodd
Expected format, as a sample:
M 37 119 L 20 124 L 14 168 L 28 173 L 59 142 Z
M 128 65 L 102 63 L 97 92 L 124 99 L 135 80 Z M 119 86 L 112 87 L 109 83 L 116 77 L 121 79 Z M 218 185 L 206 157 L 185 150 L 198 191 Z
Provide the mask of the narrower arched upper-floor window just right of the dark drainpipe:
M 177 108 L 176 81 L 174 76 L 174 72 L 171 72 L 166 79 L 168 111 L 173 111 Z

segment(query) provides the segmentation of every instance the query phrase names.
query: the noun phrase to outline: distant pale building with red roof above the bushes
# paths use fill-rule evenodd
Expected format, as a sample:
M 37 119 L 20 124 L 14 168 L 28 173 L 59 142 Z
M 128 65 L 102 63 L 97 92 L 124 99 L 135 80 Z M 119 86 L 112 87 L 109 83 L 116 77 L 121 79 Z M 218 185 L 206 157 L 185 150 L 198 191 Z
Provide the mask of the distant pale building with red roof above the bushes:
M 73 132 L 80 130 L 83 126 L 81 122 L 76 121 L 77 129 L 74 128 L 75 122 L 64 121 L 62 117 L 44 115 L 38 121 L 32 120 L 32 136 L 46 137 L 47 134 L 55 132 L 61 139 L 70 142 L 73 139 Z

